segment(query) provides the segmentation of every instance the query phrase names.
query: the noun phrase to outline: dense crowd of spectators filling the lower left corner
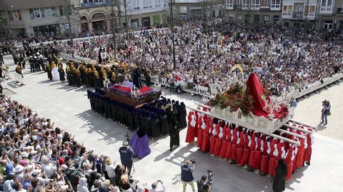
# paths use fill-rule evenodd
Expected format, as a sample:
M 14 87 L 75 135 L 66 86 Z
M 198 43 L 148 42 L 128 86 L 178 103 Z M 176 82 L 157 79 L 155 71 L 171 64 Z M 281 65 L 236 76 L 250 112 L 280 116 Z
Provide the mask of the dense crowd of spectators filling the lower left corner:
M 86 149 L 51 119 L 40 118 L 36 111 L 4 95 L 0 105 L 0 191 L 145 190 L 116 161 Z M 151 184 L 151 191 L 157 183 Z M 158 190 L 165 191 L 161 186 Z

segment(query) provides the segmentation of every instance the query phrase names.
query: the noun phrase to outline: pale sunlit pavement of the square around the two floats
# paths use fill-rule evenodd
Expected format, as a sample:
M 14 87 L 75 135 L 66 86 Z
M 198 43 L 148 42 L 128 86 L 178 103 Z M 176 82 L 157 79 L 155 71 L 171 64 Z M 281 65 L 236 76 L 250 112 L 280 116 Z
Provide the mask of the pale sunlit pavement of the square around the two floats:
M 10 64 L 12 60 L 6 60 Z M 10 67 L 11 74 L 14 66 Z M 86 88 L 76 89 L 68 83 L 48 81 L 43 72 L 31 74 L 24 69 L 24 86 L 16 86 L 13 79 L 3 81 L 4 88 L 14 91 L 11 98 L 30 106 L 39 116 L 51 118 L 60 128 L 64 128 L 83 141 L 87 148 L 95 148 L 119 161 L 118 149 L 124 141 L 128 129 L 93 113 L 86 97 Z M 200 101 L 198 96 L 189 94 L 174 95 L 163 90 L 164 96 L 182 100 L 189 106 Z M 287 183 L 286 191 L 343 191 L 343 84 L 337 83 L 324 88 L 311 96 L 301 99 L 296 109 L 295 119 L 317 125 L 319 123 L 321 101 L 329 99 L 332 116 L 327 126 L 319 127 L 312 146 L 311 166 L 296 171 Z M 151 154 L 134 162 L 134 176 L 138 176 L 148 186 L 157 179 L 166 183 L 167 191 L 182 191 L 180 183 L 180 163 L 185 159 L 196 158 L 195 180 L 207 174 L 211 168 L 214 174 L 213 191 L 272 191 L 272 182 L 268 177 L 249 173 L 242 167 L 230 165 L 227 161 L 197 151 L 197 147 L 184 143 L 186 129 L 180 132 L 181 146 L 169 152 L 169 138 L 163 137 L 149 141 Z M 187 187 L 187 191 L 192 191 Z

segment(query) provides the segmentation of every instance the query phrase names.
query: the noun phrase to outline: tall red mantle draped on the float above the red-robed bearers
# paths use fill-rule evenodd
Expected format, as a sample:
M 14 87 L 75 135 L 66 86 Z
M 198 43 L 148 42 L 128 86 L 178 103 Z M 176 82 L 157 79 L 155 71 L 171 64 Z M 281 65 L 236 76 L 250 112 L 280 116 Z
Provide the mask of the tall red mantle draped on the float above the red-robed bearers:
M 265 118 L 268 118 L 269 113 L 263 110 L 265 103 L 262 97 L 267 99 L 267 101 L 270 101 L 270 98 L 266 91 L 264 91 L 261 82 L 259 82 L 259 77 L 257 76 L 257 74 L 250 74 L 247 81 L 247 89 L 245 91 L 245 94 L 249 94 L 254 99 L 254 115 L 264 116 Z M 287 107 L 282 105 L 281 111 L 279 113 L 277 111 L 274 111 L 274 118 L 284 118 L 285 116 L 287 116 L 287 113 Z

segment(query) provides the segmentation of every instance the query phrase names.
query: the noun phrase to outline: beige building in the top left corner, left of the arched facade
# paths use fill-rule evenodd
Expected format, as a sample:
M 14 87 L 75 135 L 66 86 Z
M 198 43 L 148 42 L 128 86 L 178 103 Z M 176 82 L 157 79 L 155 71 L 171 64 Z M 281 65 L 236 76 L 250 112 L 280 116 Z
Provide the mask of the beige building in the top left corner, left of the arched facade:
M 67 21 L 66 5 L 73 0 L 3 0 L 0 1 L 2 20 L 9 34 L 63 34 L 77 31 L 76 24 L 69 26 Z M 69 14 L 69 18 L 76 21 L 76 14 Z

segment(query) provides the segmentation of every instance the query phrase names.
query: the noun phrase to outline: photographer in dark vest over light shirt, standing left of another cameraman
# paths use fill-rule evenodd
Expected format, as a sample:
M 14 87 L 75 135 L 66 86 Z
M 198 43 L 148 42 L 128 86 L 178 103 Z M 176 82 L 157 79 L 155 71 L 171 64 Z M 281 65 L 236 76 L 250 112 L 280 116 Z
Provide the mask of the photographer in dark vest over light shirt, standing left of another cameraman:
M 194 177 L 193 177 L 193 171 L 195 169 L 194 167 L 195 161 L 184 161 L 184 165 L 181 166 L 181 180 L 183 183 L 183 191 L 186 192 L 187 184 L 189 184 L 192 187 L 192 191 L 195 192 L 194 189 Z

